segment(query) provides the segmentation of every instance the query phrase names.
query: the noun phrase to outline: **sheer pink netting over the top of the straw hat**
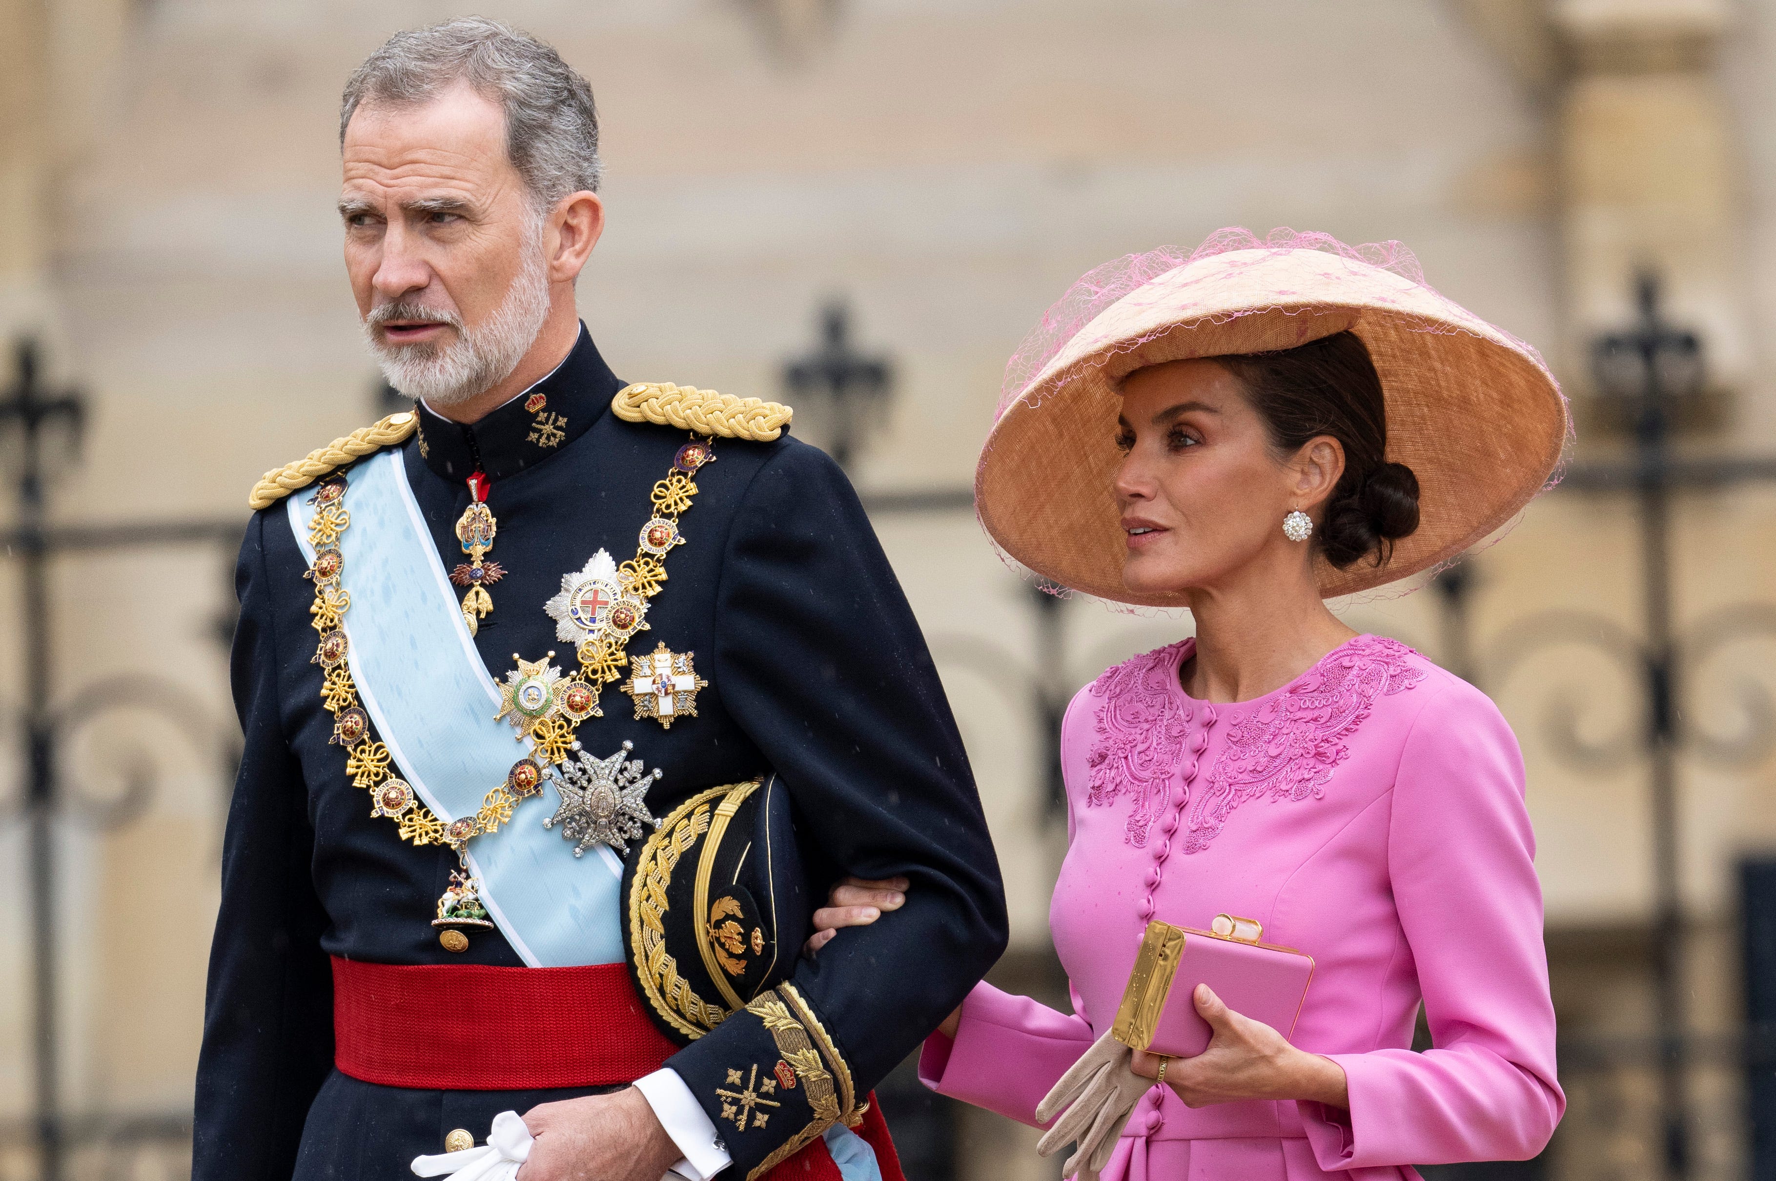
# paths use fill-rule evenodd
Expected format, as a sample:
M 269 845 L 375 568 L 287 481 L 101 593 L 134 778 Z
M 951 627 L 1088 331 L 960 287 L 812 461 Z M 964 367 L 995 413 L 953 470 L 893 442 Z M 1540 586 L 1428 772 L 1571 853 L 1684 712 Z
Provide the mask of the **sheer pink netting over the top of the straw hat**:
M 1067 288 L 1066 295 L 1043 313 L 1043 321 L 1023 337 L 1018 352 L 1005 362 L 1005 382 L 1000 385 L 996 414 L 1005 414 L 1005 408 L 1030 387 L 1030 382 L 1055 359 L 1055 353 L 1106 307 L 1170 270 L 1195 263 L 1201 258 L 1209 258 L 1211 254 L 1229 254 L 1233 250 L 1320 250 L 1392 272 L 1424 288 L 1430 286 L 1424 282 L 1424 272 L 1419 268 L 1417 256 L 1399 242 L 1368 242 L 1352 247 L 1332 234 L 1318 231 L 1298 233 L 1286 226 L 1272 229 L 1265 238 L 1241 226 L 1229 226 L 1204 238 L 1202 245 L 1195 250 L 1158 247 L 1142 254 L 1124 254 L 1119 259 L 1085 272 Z M 1511 339 L 1515 341 L 1515 337 Z M 1522 341 L 1517 343 L 1522 345 Z M 1130 348 L 1135 345 L 1138 341 L 1128 343 Z M 1534 353 L 1527 345 L 1522 346 Z

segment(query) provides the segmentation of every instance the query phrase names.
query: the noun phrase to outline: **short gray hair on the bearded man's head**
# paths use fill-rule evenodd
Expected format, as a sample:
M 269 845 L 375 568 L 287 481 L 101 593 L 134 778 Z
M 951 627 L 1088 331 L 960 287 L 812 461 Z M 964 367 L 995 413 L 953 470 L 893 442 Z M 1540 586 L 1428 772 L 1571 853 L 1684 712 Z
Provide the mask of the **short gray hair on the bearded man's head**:
M 599 192 L 599 108 L 591 87 L 551 46 L 485 16 L 458 16 L 398 32 L 345 83 L 339 144 L 352 114 L 368 103 L 424 103 L 456 82 L 506 112 L 506 156 L 533 202 Z

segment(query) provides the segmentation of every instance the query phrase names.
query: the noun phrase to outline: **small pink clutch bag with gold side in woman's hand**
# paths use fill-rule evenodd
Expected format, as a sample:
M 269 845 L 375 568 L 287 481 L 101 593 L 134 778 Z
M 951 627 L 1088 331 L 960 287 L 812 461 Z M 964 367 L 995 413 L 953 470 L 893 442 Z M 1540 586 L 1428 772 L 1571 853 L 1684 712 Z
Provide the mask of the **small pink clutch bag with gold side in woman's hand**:
M 1209 1023 L 1197 1016 L 1193 993 L 1208 984 L 1234 1012 L 1291 1037 L 1314 979 L 1314 957 L 1259 943 L 1263 934 L 1254 920 L 1233 915 L 1217 915 L 1211 931 L 1153 920 L 1110 1035 L 1172 1058 L 1202 1053 Z

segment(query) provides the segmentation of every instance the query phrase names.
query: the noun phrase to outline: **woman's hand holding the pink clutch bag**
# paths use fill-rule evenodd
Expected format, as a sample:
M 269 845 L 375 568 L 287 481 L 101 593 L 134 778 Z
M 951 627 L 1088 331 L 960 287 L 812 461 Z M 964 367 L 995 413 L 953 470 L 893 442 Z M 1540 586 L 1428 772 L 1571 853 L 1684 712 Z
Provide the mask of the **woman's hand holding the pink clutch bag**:
M 1208 1050 L 1193 1058 L 1172 1058 L 1165 1085 L 1185 1106 L 1209 1106 L 1238 1099 L 1309 1099 L 1327 1106 L 1350 1106 L 1344 1069 L 1332 1058 L 1296 1050 L 1263 1021 L 1241 1016 L 1222 1003 L 1208 984 L 1192 1000 L 1213 1030 Z M 1137 1074 L 1154 1078 L 1158 1055 L 1135 1051 Z

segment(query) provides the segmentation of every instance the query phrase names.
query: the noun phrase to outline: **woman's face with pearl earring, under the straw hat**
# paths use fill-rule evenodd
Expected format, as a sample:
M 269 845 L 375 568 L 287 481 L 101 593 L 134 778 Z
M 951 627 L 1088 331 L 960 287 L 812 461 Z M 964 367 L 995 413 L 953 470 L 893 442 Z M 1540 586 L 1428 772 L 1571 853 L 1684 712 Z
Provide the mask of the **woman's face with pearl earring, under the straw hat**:
M 1279 458 L 1238 378 L 1213 361 L 1131 373 L 1119 432 L 1115 495 L 1130 590 L 1215 588 L 1270 561 L 1311 570 L 1307 543 L 1282 535 L 1282 517 L 1300 508 L 1318 524 L 1344 469 L 1336 440 L 1311 439 Z

